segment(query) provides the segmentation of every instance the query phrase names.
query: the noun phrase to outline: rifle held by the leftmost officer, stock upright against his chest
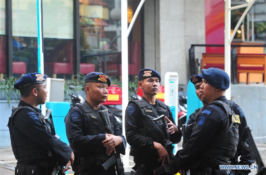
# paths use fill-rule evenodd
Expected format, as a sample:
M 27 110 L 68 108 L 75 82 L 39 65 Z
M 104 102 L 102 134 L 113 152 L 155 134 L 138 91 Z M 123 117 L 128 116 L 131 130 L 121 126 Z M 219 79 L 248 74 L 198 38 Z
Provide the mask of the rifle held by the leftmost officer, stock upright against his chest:
M 60 137 L 55 133 L 54 122 L 53 122 L 53 118 L 52 118 L 52 114 L 51 114 L 51 112 L 52 112 L 51 109 L 47 110 L 46 115 L 45 115 L 45 117 L 43 118 L 43 121 L 44 121 L 44 123 L 46 124 L 48 130 L 51 131 L 51 133 L 52 133 L 55 137 L 57 137 L 58 139 L 60 139 Z M 49 150 L 49 152 L 51 152 L 51 151 Z M 57 163 L 57 164 L 54 166 L 53 171 L 51 172 L 51 175 L 57 175 L 57 173 L 58 173 L 58 175 L 65 175 L 65 173 L 62 172 L 63 169 L 64 169 L 63 166 L 58 165 L 58 163 Z M 70 168 L 69 168 L 69 169 L 70 169 Z

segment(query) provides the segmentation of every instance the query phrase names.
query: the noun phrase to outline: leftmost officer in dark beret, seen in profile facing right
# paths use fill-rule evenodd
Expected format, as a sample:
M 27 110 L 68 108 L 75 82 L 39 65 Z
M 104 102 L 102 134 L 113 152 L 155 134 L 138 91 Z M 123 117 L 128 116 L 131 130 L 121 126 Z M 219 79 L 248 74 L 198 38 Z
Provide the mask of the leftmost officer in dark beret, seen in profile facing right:
M 12 109 L 8 127 L 17 159 L 16 175 L 48 175 L 56 163 L 65 165 L 65 172 L 74 160 L 71 148 L 51 133 L 50 123 L 37 108 L 46 101 L 45 80 L 43 74 L 27 73 L 14 84 L 21 100 Z

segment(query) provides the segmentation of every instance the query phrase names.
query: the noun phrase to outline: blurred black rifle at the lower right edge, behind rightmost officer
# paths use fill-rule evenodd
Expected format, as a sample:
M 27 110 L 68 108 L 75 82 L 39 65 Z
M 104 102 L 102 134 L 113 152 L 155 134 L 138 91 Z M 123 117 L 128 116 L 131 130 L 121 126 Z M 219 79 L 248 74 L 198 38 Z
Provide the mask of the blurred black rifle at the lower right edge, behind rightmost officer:
M 259 155 L 258 148 L 254 142 L 254 139 L 251 134 L 251 130 L 249 129 L 248 126 L 244 128 L 244 132 L 242 133 L 239 140 L 241 140 L 242 138 L 246 138 L 246 139 L 243 139 L 243 141 L 240 144 L 251 152 L 252 156 L 255 158 L 255 161 L 258 165 L 257 175 L 265 175 L 266 167 L 264 166 L 262 162 L 262 159 Z

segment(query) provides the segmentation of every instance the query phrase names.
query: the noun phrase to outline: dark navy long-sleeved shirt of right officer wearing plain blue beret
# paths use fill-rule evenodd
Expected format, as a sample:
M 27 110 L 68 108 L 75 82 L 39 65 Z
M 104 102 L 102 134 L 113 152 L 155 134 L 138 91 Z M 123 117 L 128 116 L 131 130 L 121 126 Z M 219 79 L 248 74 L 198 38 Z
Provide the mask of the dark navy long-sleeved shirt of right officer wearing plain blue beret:
M 225 101 L 226 98 L 223 96 L 216 100 Z M 225 129 L 227 120 L 228 117 L 222 107 L 214 104 L 205 106 L 199 120 L 195 123 L 194 133 L 189 137 L 189 141 L 183 149 L 174 156 L 175 165 L 179 169 L 194 169 L 191 166 L 199 166 L 196 165 L 196 160 L 200 160 L 209 142 Z M 220 160 L 220 162 L 224 162 L 224 160 Z M 224 162 L 224 164 L 228 164 L 228 162 Z

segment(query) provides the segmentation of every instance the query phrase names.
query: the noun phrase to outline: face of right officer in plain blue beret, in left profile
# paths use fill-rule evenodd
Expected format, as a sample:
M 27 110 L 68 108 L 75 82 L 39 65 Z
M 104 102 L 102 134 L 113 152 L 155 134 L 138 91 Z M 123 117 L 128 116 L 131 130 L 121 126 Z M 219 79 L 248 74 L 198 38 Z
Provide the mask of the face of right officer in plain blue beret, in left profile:
M 216 94 L 216 88 L 207 83 L 203 78 L 199 92 L 201 98 L 203 98 L 206 102 L 209 103 Z

